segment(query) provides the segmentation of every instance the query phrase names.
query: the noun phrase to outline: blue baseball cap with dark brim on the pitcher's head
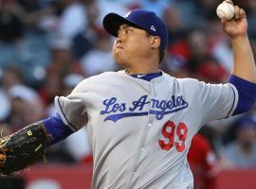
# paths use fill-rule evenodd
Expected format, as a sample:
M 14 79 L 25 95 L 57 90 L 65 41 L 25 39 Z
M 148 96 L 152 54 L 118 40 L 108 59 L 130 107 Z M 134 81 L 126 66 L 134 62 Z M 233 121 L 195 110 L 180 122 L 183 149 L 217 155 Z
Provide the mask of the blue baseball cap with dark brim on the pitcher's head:
M 112 36 L 118 37 L 119 26 L 135 26 L 146 30 L 153 36 L 161 39 L 160 47 L 166 49 L 168 43 L 167 27 L 153 11 L 132 9 L 124 17 L 117 13 L 109 13 L 103 19 L 105 30 Z

